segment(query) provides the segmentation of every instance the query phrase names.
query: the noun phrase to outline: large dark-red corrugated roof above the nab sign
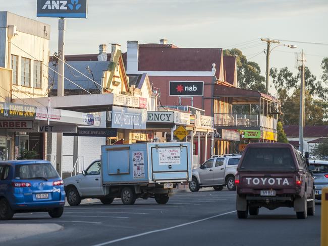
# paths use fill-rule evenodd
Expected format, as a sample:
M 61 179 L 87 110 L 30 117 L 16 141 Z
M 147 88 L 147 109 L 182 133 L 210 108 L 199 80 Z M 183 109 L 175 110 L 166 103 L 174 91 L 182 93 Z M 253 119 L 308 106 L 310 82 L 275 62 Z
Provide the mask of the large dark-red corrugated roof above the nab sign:
M 219 48 L 177 48 L 163 44 L 140 44 L 140 71 L 211 71 L 216 65 L 219 78 L 222 49 Z

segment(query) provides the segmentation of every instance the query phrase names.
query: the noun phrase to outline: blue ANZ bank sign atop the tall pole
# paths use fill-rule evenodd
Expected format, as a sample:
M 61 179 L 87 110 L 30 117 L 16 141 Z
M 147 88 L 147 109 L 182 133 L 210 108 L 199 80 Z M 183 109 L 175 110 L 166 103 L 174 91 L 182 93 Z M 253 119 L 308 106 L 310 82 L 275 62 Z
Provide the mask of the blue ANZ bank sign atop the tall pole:
M 88 0 L 37 0 L 37 17 L 87 18 Z

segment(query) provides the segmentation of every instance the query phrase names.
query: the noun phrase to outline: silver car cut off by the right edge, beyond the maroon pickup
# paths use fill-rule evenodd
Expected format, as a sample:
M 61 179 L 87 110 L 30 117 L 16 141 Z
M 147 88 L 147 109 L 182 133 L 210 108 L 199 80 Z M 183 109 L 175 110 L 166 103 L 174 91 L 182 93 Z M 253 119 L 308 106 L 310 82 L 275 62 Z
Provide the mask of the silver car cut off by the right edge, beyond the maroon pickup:
M 315 198 L 321 200 L 321 190 L 328 187 L 328 161 L 309 160 L 314 178 Z

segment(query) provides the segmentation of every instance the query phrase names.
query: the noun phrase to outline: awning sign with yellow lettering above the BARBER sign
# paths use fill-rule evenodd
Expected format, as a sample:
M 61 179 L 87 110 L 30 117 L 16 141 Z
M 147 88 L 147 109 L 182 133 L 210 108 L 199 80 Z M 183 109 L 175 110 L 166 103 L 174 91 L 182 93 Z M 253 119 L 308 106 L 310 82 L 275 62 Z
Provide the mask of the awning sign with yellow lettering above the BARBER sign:
M 35 106 L 0 102 L 0 117 L 35 119 L 35 112 Z

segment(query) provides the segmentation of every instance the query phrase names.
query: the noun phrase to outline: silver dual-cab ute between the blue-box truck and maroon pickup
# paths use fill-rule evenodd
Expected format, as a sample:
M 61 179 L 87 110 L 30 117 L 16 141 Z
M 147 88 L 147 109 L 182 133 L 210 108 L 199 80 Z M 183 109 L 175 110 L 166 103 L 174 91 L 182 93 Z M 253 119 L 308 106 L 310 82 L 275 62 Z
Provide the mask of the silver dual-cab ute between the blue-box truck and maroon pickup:
M 199 168 L 192 170 L 192 181 L 189 190 L 198 192 L 203 187 L 213 187 L 215 191 L 236 190 L 235 175 L 241 154 L 213 156 Z

